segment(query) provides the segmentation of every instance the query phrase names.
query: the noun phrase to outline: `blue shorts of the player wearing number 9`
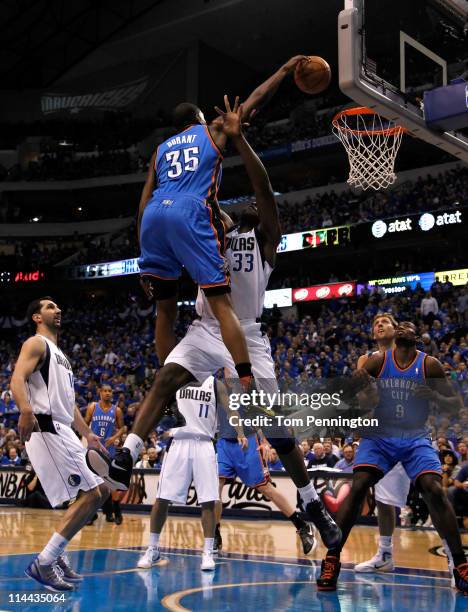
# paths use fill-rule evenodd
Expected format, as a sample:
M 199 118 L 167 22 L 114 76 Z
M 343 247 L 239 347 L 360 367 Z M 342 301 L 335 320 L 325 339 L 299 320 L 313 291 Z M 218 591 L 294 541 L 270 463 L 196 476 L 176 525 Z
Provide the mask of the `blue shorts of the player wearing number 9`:
M 442 474 L 439 455 L 428 438 L 363 438 L 354 470 L 374 467 L 387 474 L 398 462 L 412 481 L 425 473 Z

